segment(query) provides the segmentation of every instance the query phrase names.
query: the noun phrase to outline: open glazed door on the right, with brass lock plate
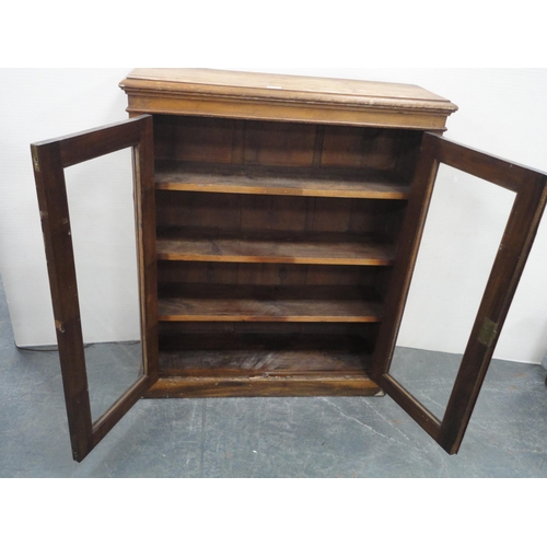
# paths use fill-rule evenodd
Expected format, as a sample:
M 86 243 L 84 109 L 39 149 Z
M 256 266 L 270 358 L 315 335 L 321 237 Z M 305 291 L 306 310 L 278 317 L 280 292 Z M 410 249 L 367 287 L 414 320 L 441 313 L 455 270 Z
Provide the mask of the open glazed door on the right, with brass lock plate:
M 484 284 L 477 292 L 477 304 L 469 316 L 470 335 L 467 339 L 467 335 L 464 333 L 462 351 L 457 351 L 462 354 L 462 359 L 459 365 L 456 363 L 452 392 L 447 389 L 444 406 L 438 405 L 438 401 L 429 396 L 430 393 L 422 392 L 417 395 L 416 392 L 419 392 L 417 383 L 408 380 L 408 375 L 398 375 L 393 368 L 394 352 L 396 345 L 398 346 L 400 323 L 404 313 L 406 313 L 405 305 L 418 249 L 422 235 L 428 235 L 427 230 L 423 233 L 423 226 L 440 168 L 446 168 L 449 172 L 454 170 L 455 174 L 451 174 L 450 178 L 455 190 L 453 189 L 453 194 L 449 194 L 443 214 L 439 216 L 439 222 L 449 222 L 447 211 L 453 206 L 455 207 L 457 201 L 454 191 L 461 190 L 462 178 L 469 177 L 469 175 L 476 177 L 473 178 L 475 186 L 485 186 L 485 189 L 492 191 L 496 196 L 500 195 L 500 205 L 498 201 L 490 203 L 496 213 L 492 214 L 492 218 L 497 217 L 497 208 L 507 209 L 507 222 L 503 219 L 499 230 L 499 240 L 497 240 L 499 243 L 493 245 L 491 261 L 488 263 L 485 270 Z M 459 176 L 457 173 L 461 172 L 466 175 Z M 426 133 L 423 137 L 412 194 L 403 226 L 403 234 L 411 235 L 400 238 L 401 243 L 392 278 L 393 290 L 385 307 L 385 317 L 391 321 L 384 323 L 380 333 L 372 377 L 450 454 L 455 454 L 458 451 L 469 422 L 546 205 L 546 188 L 547 175 L 545 173 L 489 156 L 433 133 Z M 473 205 L 473 201 L 467 203 L 466 213 L 469 212 L 469 207 Z M 473 225 L 467 223 L 461 226 L 462 230 L 469 231 L 472 244 L 479 240 L 481 231 L 486 229 L 480 228 L 480 222 L 482 222 L 482 226 L 488 226 L 492 222 L 491 219 L 481 219 L 482 214 L 482 209 L 478 207 Z M 468 214 L 465 214 L 465 218 L 468 218 Z M 469 229 L 475 230 L 475 232 Z M 467 247 L 464 248 L 467 251 Z M 433 264 L 434 269 L 439 268 L 435 276 L 452 275 L 454 280 L 457 280 L 466 276 L 467 270 L 479 261 L 482 254 L 482 251 L 479 249 L 477 255 L 473 255 L 469 248 L 468 259 L 461 261 L 451 271 L 442 270 L 442 264 L 445 260 L 438 259 L 437 265 L 434 260 L 430 264 Z M 477 259 L 474 259 L 474 256 L 477 256 Z M 485 287 L 486 289 L 484 289 Z M 484 293 L 480 296 L 482 290 Z M 472 298 L 468 292 L 473 291 L 464 292 L 461 300 Z M 437 300 L 440 300 L 439 296 Z M 450 316 L 451 310 L 445 309 L 444 313 Z M 423 317 L 423 313 L 421 317 Z M 427 321 L 430 330 L 440 325 L 439 333 L 442 334 L 442 328 L 447 328 L 439 323 L 443 322 L 442 317 L 437 319 L 428 317 Z M 410 327 L 416 327 L 416 323 L 415 321 Z M 401 381 L 401 377 L 405 380 Z M 420 381 L 422 380 L 428 381 L 428 379 L 420 377 Z M 408 385 L 412 386 L 414 393 L 410 393 Z M 428 405 L 430 407 L 433 405 L 434 411 L 431 411 Z M 439 418 L 439 415 L 442 417 Z

